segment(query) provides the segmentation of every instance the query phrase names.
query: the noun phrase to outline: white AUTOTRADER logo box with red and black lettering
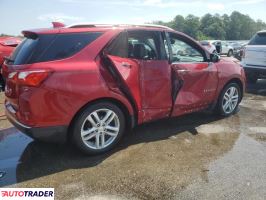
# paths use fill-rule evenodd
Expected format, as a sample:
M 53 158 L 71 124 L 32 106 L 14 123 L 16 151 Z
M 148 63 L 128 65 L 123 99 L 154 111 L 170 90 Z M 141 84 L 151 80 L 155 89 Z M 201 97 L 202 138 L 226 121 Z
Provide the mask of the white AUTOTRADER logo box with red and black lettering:
M 0 188 L 0 199 L 54 200 L 54 188 Z

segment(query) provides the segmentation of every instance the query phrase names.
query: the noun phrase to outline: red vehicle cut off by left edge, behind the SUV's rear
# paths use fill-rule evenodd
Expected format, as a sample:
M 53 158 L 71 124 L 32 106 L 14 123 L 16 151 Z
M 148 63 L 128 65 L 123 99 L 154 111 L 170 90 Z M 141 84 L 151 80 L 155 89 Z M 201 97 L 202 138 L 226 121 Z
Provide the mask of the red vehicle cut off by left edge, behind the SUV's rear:
M 4 57 L 10 56 L 14 48 L 20 42 L 20 38 L 0 37 L 0 91 L 3 91 L 5 88 L 5 81 L 2 77 L 2 64 L 4 63 Z

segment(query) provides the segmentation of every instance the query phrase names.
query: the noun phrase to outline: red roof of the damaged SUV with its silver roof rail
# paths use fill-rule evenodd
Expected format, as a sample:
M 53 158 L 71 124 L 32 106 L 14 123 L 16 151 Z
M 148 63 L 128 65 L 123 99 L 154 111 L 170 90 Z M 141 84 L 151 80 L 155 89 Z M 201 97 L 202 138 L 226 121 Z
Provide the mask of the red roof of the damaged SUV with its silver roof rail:
M 72 24 L 70 26 L 58 27 L 58 28 L 43 28 L 43 29 L 33 29 L 24 30 L 22 33 L 24 35 L 29 33 L 35 34 L 57 34 L 57 33 L 78 33 L 78 32 L 107 32 L 111 30 L 172 30 L 173 29 L 153 24 L 144 25 L 131 25 L 131 24 L 92 24 L 92 23 L 81 23 Z

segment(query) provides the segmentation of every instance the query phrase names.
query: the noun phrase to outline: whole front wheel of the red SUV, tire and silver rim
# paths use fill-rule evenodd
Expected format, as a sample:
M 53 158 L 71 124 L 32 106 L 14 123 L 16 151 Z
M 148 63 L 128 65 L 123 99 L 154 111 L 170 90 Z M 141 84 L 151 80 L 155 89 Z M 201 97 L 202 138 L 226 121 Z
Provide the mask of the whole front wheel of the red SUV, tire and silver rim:
M 218 114 L 225 117 L 234 114 L 238 109 L 241 97 L 242 94 L 238 84 L 229 83 L 226 85 L 217 103 Z

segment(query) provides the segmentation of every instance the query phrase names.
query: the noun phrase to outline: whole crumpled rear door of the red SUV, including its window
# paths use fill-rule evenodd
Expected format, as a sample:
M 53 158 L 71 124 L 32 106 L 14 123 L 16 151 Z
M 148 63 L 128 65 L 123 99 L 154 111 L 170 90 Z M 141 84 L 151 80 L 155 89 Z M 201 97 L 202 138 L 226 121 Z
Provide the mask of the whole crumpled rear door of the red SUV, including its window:
M 139 122 L 170 114 L 172 107 L 171 66 L 166 57 L 162 32 L 129 30 L 106 49 L 120 88 L 134 102 Z

